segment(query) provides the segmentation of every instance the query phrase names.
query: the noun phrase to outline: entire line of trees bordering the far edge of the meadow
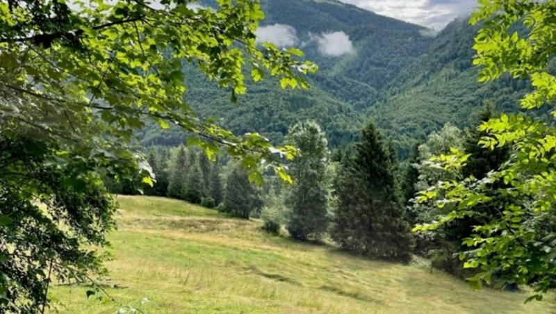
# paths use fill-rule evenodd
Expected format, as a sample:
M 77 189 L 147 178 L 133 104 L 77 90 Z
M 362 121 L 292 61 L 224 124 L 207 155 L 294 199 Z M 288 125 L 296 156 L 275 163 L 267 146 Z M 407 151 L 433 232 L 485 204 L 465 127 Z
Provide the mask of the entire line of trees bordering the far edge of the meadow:
M 434 233 L 412 233 L 414 224 L 443 214 L 415 197 L 438 181 L 484 177 L 505 161 L 507 150 L 490 151 L 477 144 L 484 134 L 476 126 L 492 115 L 492 107 L 485 106 L 466 131 L 445 124 L 426 142 L 416 143 L 404 165 L 373 122 L 361 129 L 359 141 L 333 154 L 319 124 L 299 122 L 284 142 L 299 149 L 288 163 L 293 184 L 268 176 L 265 185 L 254 185 L 240 163 L 227 158 L 211 163 L 193 147 L 151 148 L 147 159 L 156 184 L 145 188 L 145 194 L 183 199 L 235 217 L 260 217 L 270 233 L 284 228 L 296 240 L 329 238 L 345 251 L 372 258 L 407 263 L 411 254 L 420 254 L 432 258 L 434 267 L 464 278 L 469 272 L 462 271 L 463 262 L 453 256 L 476 222 L 463 220 Z M 432 156 L 449 154 L 453 147 L 473 153 L 466 167 L 446 171 L 430 163 Z M 112 191 L 133 190 L 120 186 Z

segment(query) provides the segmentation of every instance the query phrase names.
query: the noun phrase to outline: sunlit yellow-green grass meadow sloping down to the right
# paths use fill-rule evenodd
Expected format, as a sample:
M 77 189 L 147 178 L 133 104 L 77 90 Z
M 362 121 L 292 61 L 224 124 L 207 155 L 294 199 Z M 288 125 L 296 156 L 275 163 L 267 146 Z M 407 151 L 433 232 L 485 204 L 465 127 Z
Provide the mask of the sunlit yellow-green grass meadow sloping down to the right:
M 474 292 L 427 261 L 397 265 L 261 231 L 261 222 L 156 197 L 118 197 L 107 291 L 145 313 L 555 313 L 553 300 Z M 56 286 L 60 313 L 115 313 L 85 287 Z M 147 304 L 141 299 L 147 298 Z

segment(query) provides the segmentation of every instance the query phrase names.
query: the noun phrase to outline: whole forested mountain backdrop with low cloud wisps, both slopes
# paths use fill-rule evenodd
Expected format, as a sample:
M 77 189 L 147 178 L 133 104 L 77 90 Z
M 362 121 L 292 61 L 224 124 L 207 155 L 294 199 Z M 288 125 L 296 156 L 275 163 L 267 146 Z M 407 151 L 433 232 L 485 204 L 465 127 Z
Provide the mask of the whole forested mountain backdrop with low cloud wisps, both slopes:
M 281 90 L 268 80 L 248 85 L 247 95 L 231 104 L 229 92 L 184 67 L 190 104 L 239 134 L 256 131 L 281 142 L 288 126 L 315 119 L 330 145 L 342 147 L 372 118 L 406 158 L 414 140 L 445 122 L 468 126 L 484 101 L 516 108 L 516 91 L 526 85 L 509 79 L 477 83 L 471 48 L 476 29 L 464 19 L 432 38 L 422 26 L 334 0 L 261 2 L 261 37 L 300 47 L 320 70 L 309 77 L 309 91 Z M 143 144 L 173 145 L 183 142 L 183 133 L 147 128 L 140 138 Z

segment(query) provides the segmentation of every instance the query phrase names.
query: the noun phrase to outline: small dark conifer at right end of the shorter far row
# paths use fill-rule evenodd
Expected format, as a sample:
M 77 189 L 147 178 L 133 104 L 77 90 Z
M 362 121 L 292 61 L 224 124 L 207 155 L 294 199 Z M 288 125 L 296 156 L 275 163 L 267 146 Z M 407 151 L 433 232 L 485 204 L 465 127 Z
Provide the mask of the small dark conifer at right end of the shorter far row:
M 262 209 L 261 191 L 249 182 L 247 172 L 240 163 L 233 163 L 226 176 L 226 188 L 222 211 L 230 215 L 249 219 L 251 214 Z

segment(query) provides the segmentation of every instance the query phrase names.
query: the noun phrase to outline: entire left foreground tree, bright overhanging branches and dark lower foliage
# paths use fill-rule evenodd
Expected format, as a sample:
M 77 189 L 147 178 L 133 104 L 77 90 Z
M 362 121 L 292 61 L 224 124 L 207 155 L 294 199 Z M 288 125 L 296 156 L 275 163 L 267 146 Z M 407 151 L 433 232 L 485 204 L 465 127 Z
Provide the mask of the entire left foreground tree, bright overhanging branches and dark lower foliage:
M 307 88 L 302 76 L 316 65 L 297 49 L 256 45 L 257 0 L 190 3 L 0 3 L 0 312 L 44 312 L 51 278 L 83 283 L 103 273 L 88 245 L 108 245 L 115 204 L 98 173 L 153 184 L 132 146 L 149 119 L 181 126 L 208 158 L 225 147 L 253 181 L 262 179 L 261 161 L 289 179 L 279 158 L 295 149 L 199 119 L 183 101 L 182 67 L 195 65 L 235 101 L 246 71 Z

